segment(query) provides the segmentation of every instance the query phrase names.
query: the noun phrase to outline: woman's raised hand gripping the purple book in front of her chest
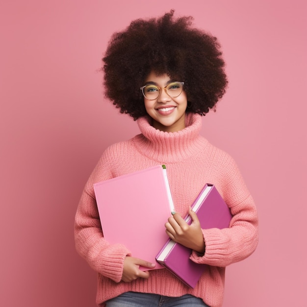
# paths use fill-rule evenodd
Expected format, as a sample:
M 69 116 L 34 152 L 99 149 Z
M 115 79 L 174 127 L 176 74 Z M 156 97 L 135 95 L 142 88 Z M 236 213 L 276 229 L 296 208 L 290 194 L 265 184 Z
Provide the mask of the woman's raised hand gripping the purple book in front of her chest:
M 204 255 L 205 241 L 201 229 L 201 224 L 197 214 L 192 211 L 191 207 L 189 208 L 188 213 L 192 218 L 191 225 L 188 225 L 179 215 L 179 213 L 175 213 L 168 219 L 168 222 L 165 224 L 166 233 L 175 242 L 178 242 Z

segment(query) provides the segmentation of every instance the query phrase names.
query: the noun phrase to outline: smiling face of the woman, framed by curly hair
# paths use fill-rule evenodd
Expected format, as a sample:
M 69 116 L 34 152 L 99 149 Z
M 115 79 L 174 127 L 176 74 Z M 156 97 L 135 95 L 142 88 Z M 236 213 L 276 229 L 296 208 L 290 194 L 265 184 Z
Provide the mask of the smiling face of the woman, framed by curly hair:
M 173 81 L 167 74 L 157 76 L 151 72 L 145 79 L 145 84 L 153 84 L 160 88 L 160 96 L 154 100 L 144 97 L 145 108 L 153 119 L 153 127 L 161 131 L 175 132 L 185 128 L 185 110 L 187 97 L 184 91 L 178 97 L 170 97 L 164 87 Z

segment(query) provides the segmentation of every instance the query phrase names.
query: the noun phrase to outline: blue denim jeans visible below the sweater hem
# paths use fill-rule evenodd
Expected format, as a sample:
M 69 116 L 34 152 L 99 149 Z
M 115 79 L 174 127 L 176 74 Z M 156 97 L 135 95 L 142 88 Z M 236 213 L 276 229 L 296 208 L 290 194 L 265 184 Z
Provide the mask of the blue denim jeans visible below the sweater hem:
M 169 297 L 151 293 L 126 292 L 106 301 L 106 307 L 209 307 L 202 299 L 186 294 Z

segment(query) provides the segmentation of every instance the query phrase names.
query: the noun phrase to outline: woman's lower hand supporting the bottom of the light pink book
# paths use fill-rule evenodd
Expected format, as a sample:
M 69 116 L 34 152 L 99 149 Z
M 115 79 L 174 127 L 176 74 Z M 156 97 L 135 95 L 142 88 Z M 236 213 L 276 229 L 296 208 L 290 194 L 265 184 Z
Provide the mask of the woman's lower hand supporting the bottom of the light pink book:
M 124 260 L 124 270 L 123 270 L 123 276 L 122 281 L 134 281 L 137 278 L 149 278 L 149 272 L 143 272 L 139 269 L 140 266 L 144 266 L 147 268 L 153 268 L 155 266 L 154 263 L 127 256 Z

